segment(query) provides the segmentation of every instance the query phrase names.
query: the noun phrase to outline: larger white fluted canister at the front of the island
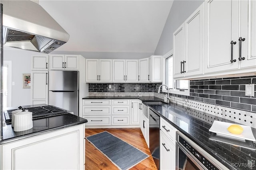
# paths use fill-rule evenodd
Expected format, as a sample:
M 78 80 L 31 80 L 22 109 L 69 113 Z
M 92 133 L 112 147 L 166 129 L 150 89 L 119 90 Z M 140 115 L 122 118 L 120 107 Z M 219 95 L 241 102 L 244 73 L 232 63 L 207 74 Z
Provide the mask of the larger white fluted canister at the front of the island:
M 26 131 L 33 127 L 32 112 L 22 111 L 14 115 L 14 131 Z

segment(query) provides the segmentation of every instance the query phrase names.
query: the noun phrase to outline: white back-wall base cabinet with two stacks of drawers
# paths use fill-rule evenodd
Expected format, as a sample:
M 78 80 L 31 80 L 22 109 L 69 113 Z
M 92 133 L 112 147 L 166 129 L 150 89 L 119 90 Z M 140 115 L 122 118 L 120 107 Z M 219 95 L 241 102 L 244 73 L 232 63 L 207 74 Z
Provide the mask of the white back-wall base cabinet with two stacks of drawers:
M 139 127 L 140 100 L 83 99 L 82 117 L 88 120 L 86 128 Z

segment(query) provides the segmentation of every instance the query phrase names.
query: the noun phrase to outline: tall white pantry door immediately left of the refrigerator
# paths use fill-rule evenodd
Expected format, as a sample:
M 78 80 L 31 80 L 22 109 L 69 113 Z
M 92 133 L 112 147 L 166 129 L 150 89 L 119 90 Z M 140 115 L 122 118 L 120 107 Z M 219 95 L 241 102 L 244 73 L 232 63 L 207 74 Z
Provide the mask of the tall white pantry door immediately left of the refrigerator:
M 32 72 L 32 100 L 48 103 L 48 72 Z

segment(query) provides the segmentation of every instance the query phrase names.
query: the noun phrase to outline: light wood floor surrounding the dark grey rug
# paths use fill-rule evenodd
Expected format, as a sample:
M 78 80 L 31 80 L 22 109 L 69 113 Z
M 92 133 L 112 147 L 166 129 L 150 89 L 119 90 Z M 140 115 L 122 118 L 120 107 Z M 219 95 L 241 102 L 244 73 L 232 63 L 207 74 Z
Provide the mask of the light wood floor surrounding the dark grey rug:
M 130 145 L 140 149 L 142 152 L 150 155 L 130 170 L 157 170 L 156 164 L 147 147 L 146 141 L 140 131 L 140 128 L 119 128 L 119 129 L 85 129 L 85 136 L 94 135 L 103 131 L 108 131 L 112 135 L 122 139 Z M 118 168 L 98 151 L 87 140 L 85 144 L 85 169 L 86 170 L 118 170 Z

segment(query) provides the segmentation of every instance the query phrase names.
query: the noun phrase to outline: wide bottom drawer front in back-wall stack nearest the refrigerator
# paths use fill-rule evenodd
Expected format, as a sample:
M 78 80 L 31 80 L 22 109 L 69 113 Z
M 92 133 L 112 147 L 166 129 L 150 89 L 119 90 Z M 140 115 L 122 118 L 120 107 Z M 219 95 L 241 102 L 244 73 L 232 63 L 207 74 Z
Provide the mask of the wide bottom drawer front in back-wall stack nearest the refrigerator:
M 111 125 L 111 116 L 83 116 L 88 122 L 86 125 Z

